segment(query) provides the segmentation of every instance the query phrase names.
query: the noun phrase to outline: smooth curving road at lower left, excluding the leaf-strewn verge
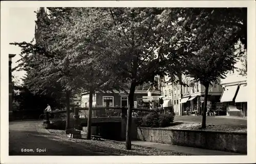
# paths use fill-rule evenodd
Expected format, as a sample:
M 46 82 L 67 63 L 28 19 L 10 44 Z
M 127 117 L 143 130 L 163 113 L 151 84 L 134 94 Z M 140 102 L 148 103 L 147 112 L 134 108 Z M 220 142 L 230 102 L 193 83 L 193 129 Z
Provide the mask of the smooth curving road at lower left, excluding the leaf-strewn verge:
M 9 155 L 104 155 L 73 142 L 63 142 L 47 130 L 38 128 L 40 124 L 41 121 L 11 122 Z M 33 152 L 22 152 L 24 149 L 32 149 Z

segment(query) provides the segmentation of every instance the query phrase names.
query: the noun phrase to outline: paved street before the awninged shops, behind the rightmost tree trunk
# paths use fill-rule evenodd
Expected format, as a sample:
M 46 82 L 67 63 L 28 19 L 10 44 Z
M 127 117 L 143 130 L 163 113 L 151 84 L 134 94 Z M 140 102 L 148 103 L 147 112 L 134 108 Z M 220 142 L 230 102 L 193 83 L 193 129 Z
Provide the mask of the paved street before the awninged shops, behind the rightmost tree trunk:
M 183 123 L 202 123 L 202 116 L 175 116 L 175 122 Z M 221 116 L 207 116 L 206 124 L 247 126 L 247 119 L 227 118 Z

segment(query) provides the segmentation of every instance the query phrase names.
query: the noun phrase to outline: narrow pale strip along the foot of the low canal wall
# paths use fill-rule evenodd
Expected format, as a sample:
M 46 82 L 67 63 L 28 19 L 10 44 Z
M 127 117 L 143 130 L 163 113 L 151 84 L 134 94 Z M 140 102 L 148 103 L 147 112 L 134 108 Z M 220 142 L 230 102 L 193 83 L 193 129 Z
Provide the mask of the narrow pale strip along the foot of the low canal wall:
M 125 143 L 125 142 L 121 142 L 121 143 Z M 200 148 L 161 144 L 161 143 L 151 143 L 151 142 L 145 142 L 140 140 L 132 141 L 132 145 L 156 148 L 159 150 L 176 151 L 176 152 L 187 153 L 191 155 L 246 155 L 246 154 L 232 153 L 232 152 L 225 152 L 225 151 L 200 149 Z

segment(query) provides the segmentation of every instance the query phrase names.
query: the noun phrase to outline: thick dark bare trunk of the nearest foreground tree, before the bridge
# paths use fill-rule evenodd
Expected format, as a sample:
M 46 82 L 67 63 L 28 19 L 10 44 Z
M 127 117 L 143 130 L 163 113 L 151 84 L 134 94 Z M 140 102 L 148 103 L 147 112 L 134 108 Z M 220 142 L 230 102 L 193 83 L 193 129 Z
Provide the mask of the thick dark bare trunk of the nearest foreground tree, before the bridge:
M 128 113 L 127 113 L 127 123 L 126 123 L 126 150 L 131 150 L 132 149 L 132 144 L 131 144 L 131 129 L 132 129 L 132 108 L 134 106 L 134 92 L 135 92 L 135 84 L 131 84 L 130 88 L 130 93 L 129 93 L 129 107 L 128 107 Z

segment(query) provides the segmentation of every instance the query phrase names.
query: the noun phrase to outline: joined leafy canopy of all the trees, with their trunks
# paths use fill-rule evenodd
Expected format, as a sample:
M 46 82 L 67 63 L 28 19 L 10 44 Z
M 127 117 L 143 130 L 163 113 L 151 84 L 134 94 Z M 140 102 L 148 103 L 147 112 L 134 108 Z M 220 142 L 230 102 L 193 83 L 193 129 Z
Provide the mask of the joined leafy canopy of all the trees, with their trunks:
M 66 92 L 67 106 L 71 91 L 88 92 L 89 138 L 92 94 L 129 87 L 126 149 L 138 85 L 185 73 L 207 88 L 234 68 L 234 44 L 247 46 L 245 8 L 48 9 L 37 14 L 35 44 L 13 43 L 25 83 L 35 93 Z

